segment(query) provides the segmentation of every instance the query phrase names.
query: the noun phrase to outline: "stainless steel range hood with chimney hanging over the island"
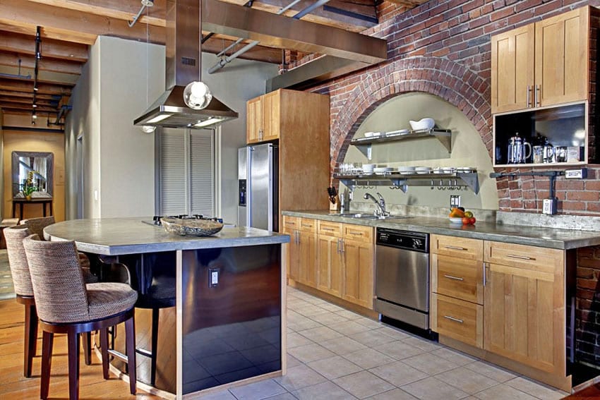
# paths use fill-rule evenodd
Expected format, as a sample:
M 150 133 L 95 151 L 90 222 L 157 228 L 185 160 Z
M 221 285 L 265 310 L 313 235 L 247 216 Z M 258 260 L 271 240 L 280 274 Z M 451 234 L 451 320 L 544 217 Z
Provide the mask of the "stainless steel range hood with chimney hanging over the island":
M 184 102 L 186 85 L 200 80 L 200 0 L 167 0 L 166 11 L 167 91 L 133 124 L 202 129 L 236 119 L 236 111 L 215 97 L 203 109 L 192 109 Z

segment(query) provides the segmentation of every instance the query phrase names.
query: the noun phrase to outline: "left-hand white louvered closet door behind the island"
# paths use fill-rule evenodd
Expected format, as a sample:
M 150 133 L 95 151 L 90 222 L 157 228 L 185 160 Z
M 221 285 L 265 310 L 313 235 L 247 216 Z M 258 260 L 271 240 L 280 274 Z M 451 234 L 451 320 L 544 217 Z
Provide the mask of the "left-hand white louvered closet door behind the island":
M 160 215 L 186 214 L 188 198 L 186 138 L 181 129 L 163 128 L 160 134 Z

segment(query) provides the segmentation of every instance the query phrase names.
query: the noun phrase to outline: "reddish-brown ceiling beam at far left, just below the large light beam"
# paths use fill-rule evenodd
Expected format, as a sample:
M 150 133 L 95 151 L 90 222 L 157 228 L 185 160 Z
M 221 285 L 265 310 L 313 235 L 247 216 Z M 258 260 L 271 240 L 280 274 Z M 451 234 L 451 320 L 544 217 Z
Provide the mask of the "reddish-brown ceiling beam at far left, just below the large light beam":
M 8 32 L 11 27 L 0 24 L 0 51 L 13 51 L 18 54 L 35 55 L 35 35 L 20 35 Z M 35 34 L 35 32 L 34 32 Z M 42 35 L 43 59 L 62 59 L 85 63 L 88 61 L 88 45 L 61 42 Z

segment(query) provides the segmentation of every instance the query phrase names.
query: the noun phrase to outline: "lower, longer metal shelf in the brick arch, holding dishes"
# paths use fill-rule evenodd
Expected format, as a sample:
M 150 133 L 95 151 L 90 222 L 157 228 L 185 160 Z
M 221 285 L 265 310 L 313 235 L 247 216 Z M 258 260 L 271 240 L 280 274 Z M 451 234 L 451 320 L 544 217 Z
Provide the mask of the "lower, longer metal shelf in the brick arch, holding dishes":
M 477 172 L 452 172 L 450 174 L 383 174 L 383 175 L 340 175 L 334 174 L 345 186 L 394 186 L 404 193 L 409 186 L 471 188 L 479 193 Z

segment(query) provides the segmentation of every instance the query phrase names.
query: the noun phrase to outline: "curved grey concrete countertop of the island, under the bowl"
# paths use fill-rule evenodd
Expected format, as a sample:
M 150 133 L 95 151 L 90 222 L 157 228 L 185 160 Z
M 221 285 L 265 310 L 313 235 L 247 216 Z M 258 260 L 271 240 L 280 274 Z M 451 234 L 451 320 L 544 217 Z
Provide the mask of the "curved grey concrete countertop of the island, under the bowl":
M 72 219 L 47 226 L 44 236 L 53 241 L 76 241 L 78 250 L 102 255 L 289 242 L 288 235 L 245 226 L 223 228 L 213 236 L 177 236 L 169 234 L 161 226 L 145 224 L 142 220 L 152 221 L 152 217 Z

